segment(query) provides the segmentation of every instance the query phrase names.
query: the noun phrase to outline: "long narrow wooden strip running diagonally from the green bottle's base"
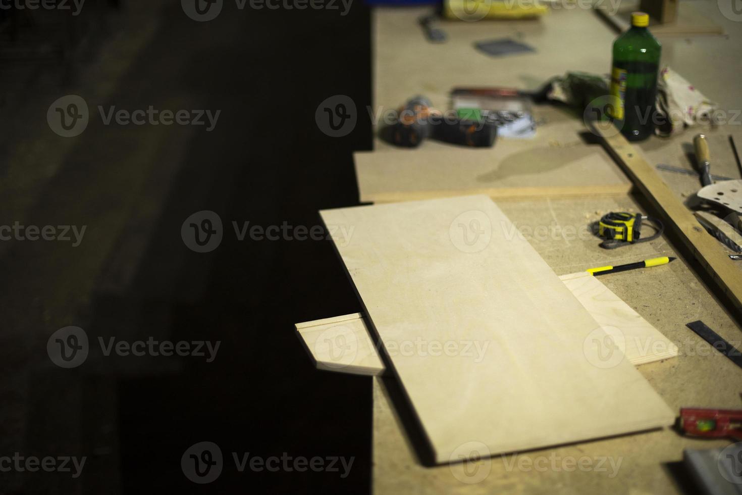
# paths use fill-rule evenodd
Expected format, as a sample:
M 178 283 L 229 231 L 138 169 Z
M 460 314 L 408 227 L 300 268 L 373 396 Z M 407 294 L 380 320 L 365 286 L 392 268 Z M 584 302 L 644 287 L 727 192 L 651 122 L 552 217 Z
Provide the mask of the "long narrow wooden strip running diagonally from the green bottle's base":
M 693 217 L 654 168 L 644 160 L 639 151 L 614 128 L 594 125 L 593 131 L 603 137 L 615 160 L 628 177 L 660 212 L 666 226 L 690 249 L 699 263 L 709 272 L 719 288 L 729 296 L 738 311 L 742 310 L 742 274 L 730 260 L 718 241 L 710 236 Z

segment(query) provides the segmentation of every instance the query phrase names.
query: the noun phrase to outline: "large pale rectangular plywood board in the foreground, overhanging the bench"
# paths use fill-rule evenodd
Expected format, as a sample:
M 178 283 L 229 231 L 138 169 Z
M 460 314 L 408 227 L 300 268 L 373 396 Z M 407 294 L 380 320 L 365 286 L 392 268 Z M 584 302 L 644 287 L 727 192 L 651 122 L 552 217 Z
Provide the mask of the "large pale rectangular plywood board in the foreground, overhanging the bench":
M 662 427 L 672 410 L 488 197 L 326 210 L 435 462 Z M 421 342 L 422 347 L 418 347 Z M 381 347 L 384 350 L 384 347 Z M 441 352 L 445 350 L 445 352 Z M 617 356 L 617 358 L 611 358 Z

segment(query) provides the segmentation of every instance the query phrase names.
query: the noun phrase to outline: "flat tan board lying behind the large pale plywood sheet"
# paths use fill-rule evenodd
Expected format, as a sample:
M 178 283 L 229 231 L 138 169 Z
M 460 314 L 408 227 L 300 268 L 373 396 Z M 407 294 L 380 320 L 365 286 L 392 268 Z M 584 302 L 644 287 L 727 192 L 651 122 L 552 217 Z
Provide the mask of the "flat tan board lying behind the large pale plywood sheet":
M 571 133 L 576 137 L 577 131 Z M 428 142 L 353 154 L 363 203 L 487 194 L 495 200 L 626 194 L 631 182 L 598 145 L 503 140 L 494 148 Z

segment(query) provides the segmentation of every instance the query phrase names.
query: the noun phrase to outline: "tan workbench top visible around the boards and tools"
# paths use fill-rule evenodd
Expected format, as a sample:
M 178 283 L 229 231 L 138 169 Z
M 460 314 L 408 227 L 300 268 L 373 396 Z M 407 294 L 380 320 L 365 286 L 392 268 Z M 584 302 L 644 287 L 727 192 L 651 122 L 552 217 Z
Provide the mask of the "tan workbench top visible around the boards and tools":
M 689 79 L 720 108 L 742 108 L 742 85 L 736 79 L 742 60 L 742 23 L 725 19 L 716 1 L 692 3 L 722 25 L 726 36 L 662 37 L 662 64 Z M 427 42 L 418 26 L 418 18 L 430 10 L 384 7 L 372 13 L 375 108 L 397 107 L 416 94 L 424 94 L 439 108 L 448 108 L 448 94 L 455 86 L 535 90 L 567 71 L 602 74 L 610 67 L 611 44 L 617 33 L 592 10 L 554 9 L 539 20 L 439 22 L 448 37 L 442 44 Z M 473 47 L 476 41 L 505 37 L 528 43 L 535 51 L 494 58 Z M 539 128 L 535 142 L 574 146 L 585 131 L 582 119 L 558 111 L 545 109 L 539 115 L 536 108 L 536 118 L 545 119 L 547 125 Z M 726 141 L 732 134 L 742 143 L 740 124 L 742 118 L 736 117 L 720 128 L 689 128 L 671 139 L 652 137 L 638 146 L 652 165 L 689 168 L 688 149 L 683 146 L 703 132 L 712 148 L 712 173 L 740 177 Z M 445 146 L 424 142 L 421 148 Z M 375 151 L 415 152 L 395 151 L 378 139 Z M 695 177 L 657 173 L 679 197 L 688 197 L 700 188 Z M 562 180 L 568 185 L 569 177 Z M 677 256 L 679 260 L 659 269 L 617 273 L 601 281 L 680 348 L 676 358 L 638 367 L 673 410 L 741 407 L 742 370 L 686 327 L 690 321 L 703 320 L 736 347 L 742 341 L 734 314 L 715 297 L 715 288 L 700 266 L 665 235 L 606 252 L 585 229 L 607 212 L 648 213 L 648 202 L 640 194 L 498 200 L 498 205 L 557 275 L 602 266 L 608 260 L 615 265 Z M 719 249 L 724 248 L 719 245 Z M 394 384 L 388 379 L 373 378 L 372 489 L 377 494 L 676 494 L 689 483 L 678 476 L 683 471 L 678 463 L 684 449 L 729 444 L 726 440 L 690 439 L 665 428 L 474 463 L 427 467 L 418 459 L 393 406 Z

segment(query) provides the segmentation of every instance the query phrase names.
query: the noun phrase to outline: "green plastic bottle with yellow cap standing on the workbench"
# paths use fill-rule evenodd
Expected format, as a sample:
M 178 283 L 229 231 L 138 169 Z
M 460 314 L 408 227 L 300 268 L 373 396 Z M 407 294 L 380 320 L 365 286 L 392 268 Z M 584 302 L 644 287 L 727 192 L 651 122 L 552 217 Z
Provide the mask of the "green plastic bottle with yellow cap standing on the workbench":
M 613 44 L 612 105 L 609 117 L 627 140 L 646 140 L 654 134 L 657 71 L 662 46 L 647 26 L 649 15 L 631 14 L 631 28 Z

